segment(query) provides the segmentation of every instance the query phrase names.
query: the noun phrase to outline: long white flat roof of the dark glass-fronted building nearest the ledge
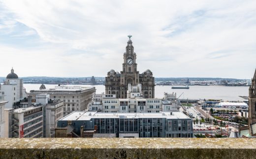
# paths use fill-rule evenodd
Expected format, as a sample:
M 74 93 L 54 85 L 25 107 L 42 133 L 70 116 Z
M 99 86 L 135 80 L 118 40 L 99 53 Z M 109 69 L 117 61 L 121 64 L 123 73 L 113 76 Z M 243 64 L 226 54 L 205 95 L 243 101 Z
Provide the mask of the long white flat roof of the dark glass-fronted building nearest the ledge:
M 100 113 L 75 111 L 65 116 L 59 121 L 88 121 L 94 119 L 113 118 L 113 119 L 138 119 L 138 118 L 166 118 L 166 119 L 190 119 L 182 112 L 160 112 L 160 113 Z

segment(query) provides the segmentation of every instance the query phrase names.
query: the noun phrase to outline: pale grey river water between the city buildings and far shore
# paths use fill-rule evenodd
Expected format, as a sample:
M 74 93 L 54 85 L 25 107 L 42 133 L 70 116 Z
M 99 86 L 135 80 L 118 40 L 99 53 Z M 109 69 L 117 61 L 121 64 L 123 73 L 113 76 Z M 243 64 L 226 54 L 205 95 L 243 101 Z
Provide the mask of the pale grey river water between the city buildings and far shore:
M 47 85 L 46 89 L 54 88 L 57 85 Z M 95 87 L 96 93 L 105 92 L 104 85 L 75 85 L 84 87 Z M 40 84 L 24 84 L 27 92 L 39 90 Z M 171 89 L 171 86 L 156 86 L 155 97 L 162 98 L 164 92 L 177 93 L 181 99 L 222 99 L 222 100 L 243 100 L 241 96 L 248 96 L 249 87 L 227 87 L 227 86 L 190 86 L 190 89 Z

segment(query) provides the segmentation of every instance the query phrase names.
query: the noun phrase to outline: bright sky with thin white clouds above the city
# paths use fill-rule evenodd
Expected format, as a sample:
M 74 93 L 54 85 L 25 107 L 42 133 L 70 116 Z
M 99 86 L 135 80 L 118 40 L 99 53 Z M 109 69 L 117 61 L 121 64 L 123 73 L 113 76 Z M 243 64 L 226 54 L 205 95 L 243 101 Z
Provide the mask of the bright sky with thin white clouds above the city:
M 129 34 L 140 73 L 256 69 L 256 0 L 0 0 L 0 76 L 104 77 L 122 70 Z

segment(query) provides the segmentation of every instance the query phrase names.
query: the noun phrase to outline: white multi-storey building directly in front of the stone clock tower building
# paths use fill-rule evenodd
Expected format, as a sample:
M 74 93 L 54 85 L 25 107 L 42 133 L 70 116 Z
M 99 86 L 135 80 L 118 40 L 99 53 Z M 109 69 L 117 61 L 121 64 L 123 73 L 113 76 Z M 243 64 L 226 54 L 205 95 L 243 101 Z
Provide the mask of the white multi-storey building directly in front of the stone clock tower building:
M 98 95 L 97 101 L 88 104 L 89 111 L 102 113 L 158 113 L 160 111 L 179 111 L 180 102 L 176 94 L 165 94 L 163 99 L 141 97 L 141 85 L 128 84 L 128 98 L 116 98 L 116 95 Z M 100 100 L 99 100 L 100 99 Z

